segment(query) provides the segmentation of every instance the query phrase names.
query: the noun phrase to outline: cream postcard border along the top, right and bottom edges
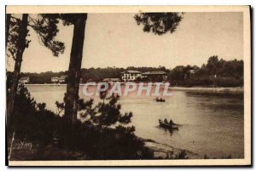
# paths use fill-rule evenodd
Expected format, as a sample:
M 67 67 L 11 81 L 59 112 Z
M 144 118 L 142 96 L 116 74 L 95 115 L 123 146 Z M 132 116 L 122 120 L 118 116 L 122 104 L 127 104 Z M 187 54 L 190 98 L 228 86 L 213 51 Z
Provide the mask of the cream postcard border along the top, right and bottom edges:
M 191 166 L 251 164 L 251 25 L 250 6 L 7 6 L 10 14 L 242 12 L 244 43 L 244 159 L 9 161 L 9 166 Z

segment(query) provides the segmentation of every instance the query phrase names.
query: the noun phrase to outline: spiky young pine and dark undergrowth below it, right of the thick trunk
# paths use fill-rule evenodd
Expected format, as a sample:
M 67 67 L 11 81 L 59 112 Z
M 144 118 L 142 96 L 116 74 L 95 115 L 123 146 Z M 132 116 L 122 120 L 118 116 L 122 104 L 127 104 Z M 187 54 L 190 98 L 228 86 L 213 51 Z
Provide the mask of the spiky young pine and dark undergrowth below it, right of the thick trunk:
M 119 96 L 107 93 L 102 101 L 93 107 L 93 100 L 79 100 L 79 113 L 82 121 L 75 125 L 75 133 L 64 127 L 62 137 L 68 148 L 83 150 L 93 159 L 146 159 L 153 152 L 144 147 L 143 140 L 134 134 L 134 127 L 123 125 L 131 123 L 132 113 L 120 112 Z M 108 100 L 108 102 L 106 102 Z M 59 102 L 56 104 L 60 105 Z M 85 118 L 85 119 L 84 119 Z M 118 125 L 118 126 L 117 126 Z M 69 132 L 69 133 L 68 133 Z

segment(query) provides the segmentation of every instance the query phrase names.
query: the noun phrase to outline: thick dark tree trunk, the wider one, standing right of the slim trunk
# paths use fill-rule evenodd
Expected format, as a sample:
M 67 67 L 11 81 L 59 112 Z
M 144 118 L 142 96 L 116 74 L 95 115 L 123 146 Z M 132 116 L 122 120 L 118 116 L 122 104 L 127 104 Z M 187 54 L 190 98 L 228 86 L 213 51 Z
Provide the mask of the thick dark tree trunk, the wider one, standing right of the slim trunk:
M 73 27 L 73 41 L 67 77 L 67 94 L 65 97 L 65 117 L 67 123 L 77 121 L 79 81 L 84 48 L 84 32 L 87 14 L 80 14 Z

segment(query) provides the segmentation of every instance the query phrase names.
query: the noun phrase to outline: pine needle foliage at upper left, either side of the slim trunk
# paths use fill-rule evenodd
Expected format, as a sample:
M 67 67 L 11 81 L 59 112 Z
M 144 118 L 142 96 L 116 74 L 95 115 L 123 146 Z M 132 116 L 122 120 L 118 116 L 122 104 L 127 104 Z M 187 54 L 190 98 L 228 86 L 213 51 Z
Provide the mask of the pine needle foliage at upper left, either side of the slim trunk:
M 56 41 L 55 36 L 59 31 L 57 28 L 59 20 L 56 18 L 55 14 L 37 14 L 36 17 L 28 15 L 28 26 L 32 27 L 33 31 L 38 34 L 38 41 L 42 43 L 46 48 L 49 48 L 51 52 L 58 56 L 64 52 L 64 43 Z M 19 50 L 18 40 L 19 40 L 19 29 L 21 20 L 14 14 L 10 16 L 9 22 L 9 37 L 7 41 L 7 47 L 10 55 L 15 59 L 17 50 Z M 27 28 L 27 36 L 29 37 Z M 31 41 L 26 39 L 26 48 Z

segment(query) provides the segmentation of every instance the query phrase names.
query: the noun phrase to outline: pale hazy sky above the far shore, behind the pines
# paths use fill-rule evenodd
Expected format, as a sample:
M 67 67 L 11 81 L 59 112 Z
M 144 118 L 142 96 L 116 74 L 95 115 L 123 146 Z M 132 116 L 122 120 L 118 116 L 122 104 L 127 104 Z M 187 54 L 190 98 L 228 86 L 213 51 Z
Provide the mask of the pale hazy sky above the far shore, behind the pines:
M 212 55 L 224 60 L 243 58 L 242 13 L 186 13 L 177 31 L 162 36 L 143 32 L 134 14 L 88 14 L 82 68 L 126 66 L 201 66 Z M 73 26 L 60 25 L 56 37 L 66 45 L 54 57 L 40 45 L 34 31 L 21 71 L 67 71 Z M 14 62 L 7 60 L 13 70 Z

